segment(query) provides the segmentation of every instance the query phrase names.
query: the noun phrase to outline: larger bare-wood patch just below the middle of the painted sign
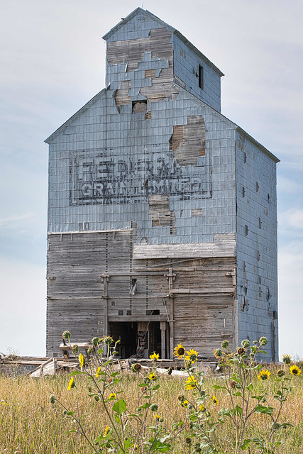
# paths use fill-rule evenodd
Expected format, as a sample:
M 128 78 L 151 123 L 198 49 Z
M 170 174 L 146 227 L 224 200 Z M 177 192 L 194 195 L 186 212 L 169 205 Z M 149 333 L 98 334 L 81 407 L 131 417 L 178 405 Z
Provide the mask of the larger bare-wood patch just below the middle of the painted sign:
M 153 227 L 170 227 L 170 235 L 176 234 L 175 212 L 170 210 L 169 194 L 150 195 L 148 197 L 148 217 Z

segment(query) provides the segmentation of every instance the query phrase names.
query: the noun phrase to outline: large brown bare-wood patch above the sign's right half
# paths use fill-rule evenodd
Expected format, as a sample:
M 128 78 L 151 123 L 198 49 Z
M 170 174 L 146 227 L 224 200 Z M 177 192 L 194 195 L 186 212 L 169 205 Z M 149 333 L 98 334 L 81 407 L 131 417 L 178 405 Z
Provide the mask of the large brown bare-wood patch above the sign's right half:
M 170 150 L 180 165 L 197 165 L 205 156 L 205 122 L 201 115 L 187 117 L 187 125 L 173 126 Z

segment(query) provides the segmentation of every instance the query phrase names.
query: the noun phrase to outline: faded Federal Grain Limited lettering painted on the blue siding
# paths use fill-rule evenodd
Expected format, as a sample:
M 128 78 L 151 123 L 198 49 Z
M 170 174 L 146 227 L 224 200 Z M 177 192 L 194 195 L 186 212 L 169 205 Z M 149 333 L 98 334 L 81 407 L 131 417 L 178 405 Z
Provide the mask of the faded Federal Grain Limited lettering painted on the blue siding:
M 157 153 L 158 152 L 158 153 Z M 70 204 L 141 203 L 149 195 L 170 194 L 181 200 L 211 196 L 209 167 L 180 166 L 172 152 L 159 153 L 157 145 L 133 156 L 114 150 L 73 152 L 70 160 Z

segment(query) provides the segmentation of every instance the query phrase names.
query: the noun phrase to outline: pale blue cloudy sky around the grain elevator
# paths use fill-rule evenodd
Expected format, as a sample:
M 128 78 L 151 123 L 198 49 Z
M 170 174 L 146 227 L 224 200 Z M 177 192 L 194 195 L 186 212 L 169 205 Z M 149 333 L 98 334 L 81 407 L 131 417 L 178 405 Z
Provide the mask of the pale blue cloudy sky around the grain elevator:
M 43 140 L 104 88 L 101 36 L 138 6 L 177 28 L 226 74 L 222 114 L 281 160 L 280 354 L 303 358 L 300 0 L 1 1 L 0 352 L 45 355 Z

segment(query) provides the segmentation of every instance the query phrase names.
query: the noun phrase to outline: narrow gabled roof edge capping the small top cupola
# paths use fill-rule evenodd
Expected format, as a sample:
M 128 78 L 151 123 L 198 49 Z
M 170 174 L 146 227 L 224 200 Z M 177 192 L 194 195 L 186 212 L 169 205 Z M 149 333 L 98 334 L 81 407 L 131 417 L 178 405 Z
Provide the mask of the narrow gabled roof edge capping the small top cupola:
M 221 72 L 221 70 L 219 70 L 219 68 L 216 67 L 216 65 L 214 65 L 214 63 L 212 63 L 204 54 L 202 54 L 202 52 L 199 51 L 199 49 L 197 49 L 189 40 L 187 40 L 187 38 L 185 38 L 185 36 L 182 35 L 182 33 L 180 33 L 180 31 L 177 31 L 176 28 L 174 28 L 174 27 L 168 25 L 168 23 L 162 21 L 160 18 L 155 16 L 155 14 L 150 13 L 150 11 L 142 9 L 142 8 L 137 8 L 132 13 L 128 14 L 128 16 L 125 19 L 122 19 L 122 21 L 117 23 L 116 26 L 111 28 L 111 30 L 108 33 L 106 33 L 106 35 L 102 36 L 102 38 L 106 41 L 109 40 L 109 38 L 111 38 L 111 36 L 114 35 L 114 33 L 116 33 L 116 31 L 119 31 L 120 28 L 125 26 L 126 23 L 131 21 L 131 19 L 133 17 L 137 16 L 138 14 L 144 14 L 146 17 L 152 19 L 155 22 L 158 22 L 161 27 L 165 27 L 165 28 L 167 28 L 167 30 L 174 33 L 174 35 L 176 35 L 178 38 L 180 38 L 180 40 L 182 40 L 183 43 L 185 45 L 187 45 L 187 47 L 189 47 L 189 49 L 191 49 L 195 54 L 197 54 L 197 56 L 199 58 L 201 58 L 201 60 L 204 61 L 206 63 L 206 65 L 209 65 L 209 67 L 211 67 L 211 69 L 214 70 L 214 72 L 216 72 L 216 74 L 219 74 L 220 77 L 224 76 L 223 72 Z

